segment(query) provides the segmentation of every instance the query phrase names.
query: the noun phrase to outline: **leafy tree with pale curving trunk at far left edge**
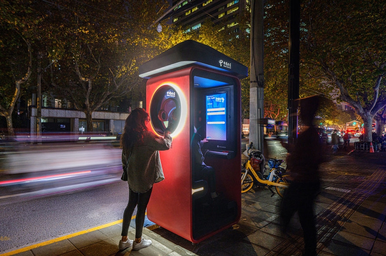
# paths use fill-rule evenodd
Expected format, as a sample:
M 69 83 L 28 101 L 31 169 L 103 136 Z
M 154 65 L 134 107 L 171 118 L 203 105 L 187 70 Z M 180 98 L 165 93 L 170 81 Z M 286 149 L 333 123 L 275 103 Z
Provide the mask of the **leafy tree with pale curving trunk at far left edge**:
M 20 3 L 2 1 L 0 10 L 0 116 L 6 119 L 8 135 L 13 136 L 12 114 L 32 72 L 28 31 L 33 21 L 27 19 L 31 10 L 20 8 Z

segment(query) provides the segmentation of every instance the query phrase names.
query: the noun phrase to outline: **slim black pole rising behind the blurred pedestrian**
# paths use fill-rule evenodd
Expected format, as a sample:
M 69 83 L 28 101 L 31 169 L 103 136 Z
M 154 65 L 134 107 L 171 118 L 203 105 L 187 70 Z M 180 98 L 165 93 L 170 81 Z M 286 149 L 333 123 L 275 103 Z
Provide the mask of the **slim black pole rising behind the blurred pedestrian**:
M 288 62 L 288 143 L 298 136 L 299 55 L 300 55 L 300 2 L 289 0 L 289 62 Z

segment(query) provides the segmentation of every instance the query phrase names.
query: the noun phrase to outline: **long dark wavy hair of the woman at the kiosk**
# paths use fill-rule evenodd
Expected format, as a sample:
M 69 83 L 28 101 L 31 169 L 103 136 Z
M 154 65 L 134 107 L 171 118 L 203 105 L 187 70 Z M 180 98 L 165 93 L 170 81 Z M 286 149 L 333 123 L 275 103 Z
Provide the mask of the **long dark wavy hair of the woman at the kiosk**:
M 142 131 L 147 131 L 145 121 L 149 118 L 143 108 L 136 108 L 126 118 L 124 132 L 120 139 L 120 145 L 124 150 L 129 149 L 133 144 L 141 142 Z

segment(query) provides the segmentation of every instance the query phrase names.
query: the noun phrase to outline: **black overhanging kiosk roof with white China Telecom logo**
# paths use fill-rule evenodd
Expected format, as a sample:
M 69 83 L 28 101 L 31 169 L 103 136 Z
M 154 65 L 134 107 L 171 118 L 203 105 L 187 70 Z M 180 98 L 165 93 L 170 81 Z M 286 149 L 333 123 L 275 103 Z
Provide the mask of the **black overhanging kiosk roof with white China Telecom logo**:
M 248 76 L 248 68 L 212 47 L 194 40 L 174 45 L 139 66 L 139 76 L 151 78 L 174 69 L 199 65 L 230 73 L 239 78 Z

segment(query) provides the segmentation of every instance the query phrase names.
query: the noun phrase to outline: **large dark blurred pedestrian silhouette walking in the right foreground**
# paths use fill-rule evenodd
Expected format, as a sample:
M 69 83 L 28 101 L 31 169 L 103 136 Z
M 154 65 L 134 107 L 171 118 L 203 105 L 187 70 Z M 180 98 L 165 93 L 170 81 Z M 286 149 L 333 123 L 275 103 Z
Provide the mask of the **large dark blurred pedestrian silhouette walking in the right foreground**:
M 305 243 L 303 256 L 317 255 L 313 208 L 315 197 L 319 192 L 318 168 L 323 160 L 323 149 L 318 131 L 313 126 L 313 117 L 319 101 L 319 96 L 299 100 L 300 118 L 304 126 L 295 145 L 287 146 L 289 153 L 287 166 L 291 170 L 289 172 L 291 183 L 284 192 L 280 209 L 280 220 L 284 232 L 288 231 L 293 214 L 296 211 L 299 214 Z

